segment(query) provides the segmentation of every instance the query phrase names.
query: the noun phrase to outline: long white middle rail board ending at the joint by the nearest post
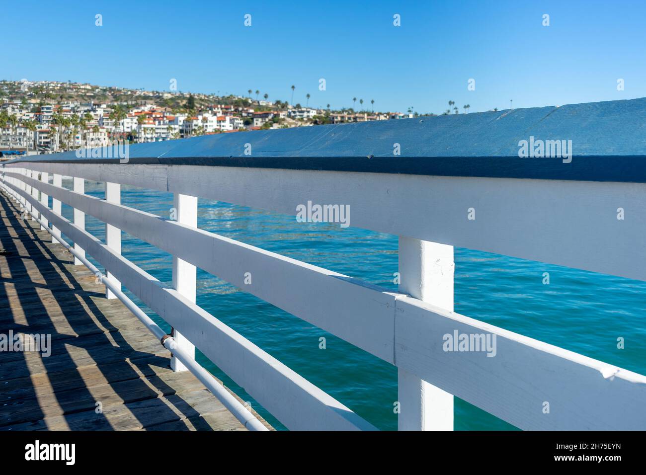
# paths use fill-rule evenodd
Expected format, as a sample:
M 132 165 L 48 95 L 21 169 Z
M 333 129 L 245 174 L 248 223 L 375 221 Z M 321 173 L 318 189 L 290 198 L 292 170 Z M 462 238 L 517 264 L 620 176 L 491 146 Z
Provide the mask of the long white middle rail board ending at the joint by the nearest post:
M 394 362 L 393 308 L 397 293 L 145 211 L 17 177 L 388 363 Z M 245 283 L 249 282 L 247 277 L 251 284 Z

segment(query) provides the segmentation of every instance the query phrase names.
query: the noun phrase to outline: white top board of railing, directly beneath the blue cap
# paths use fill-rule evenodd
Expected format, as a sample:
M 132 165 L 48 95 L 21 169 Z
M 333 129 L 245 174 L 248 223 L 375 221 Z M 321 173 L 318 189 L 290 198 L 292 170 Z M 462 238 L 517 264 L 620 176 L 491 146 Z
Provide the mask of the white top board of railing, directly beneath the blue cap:
M 195 165 L 16 165 L 290 215 L 308 200 L 349 205 L 350 226 L 646 280 L 646 184 Z M 617 219 L 620 207 L 623 220 Z M 470 208 L 475 220 L 468 219 Z

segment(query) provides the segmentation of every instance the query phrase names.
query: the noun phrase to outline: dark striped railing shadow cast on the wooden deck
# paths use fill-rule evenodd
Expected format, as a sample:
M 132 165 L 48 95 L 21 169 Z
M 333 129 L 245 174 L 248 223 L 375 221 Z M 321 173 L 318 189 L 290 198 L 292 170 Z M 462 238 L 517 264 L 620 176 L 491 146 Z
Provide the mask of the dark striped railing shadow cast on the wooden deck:
M 130 345 L 125 341 L 123 335 L 118 332 L 118 328 L 110 323 L 109 319 L 97 308 L 92 298 L 90 298 L 103 295 L 103 293 L 83 290 L 72 273 L 65 268 L 65 262 L 60 261 L 48 249 L 48 243 L 41 240 L 37 232 L 38 227 L 34 229 L 30 226 L 29 222 L 26 225 L 23 224 L 16 208 L 10 204 L 4 194 L 0 196 L 0 208 L 1 212 L 6 216 L 5 219 L 8 220 L 17 234 L 16 237 L 11 237 L 8 233 L 8 227 L 6 227 L 6 233 L 2 239 L 2 245 L 6 253 L 6 262 L 8 264 L 8 270 L 12 275 L 12 280 L 16 281 L 16 276 L 24 273 L 28 277 L 23 282 L 16 282 L 14 286 L 14 291 L 18 299 L 17 303 L 21 308 L 25 309 L 27 324 L 17 324 L 14 320 L 14 312 L 11 310 L 12 306 L 8 302 L 10 296 L 5 290 L 5 286 L 3 286 L 0 289 L 0 302 L 5 301 L 1 306 L 8 309 L 8 312 L 5 314 L 7 318 L 2 319 L 3 327 L 5 327 L 5 331 L 7 332 L 9 329 L 12 329 L 14 333 L 40 333 L 50 334 L 52 336 L 52 348 L 50 348 L 52 358 L 39 356 L 39 359 L 47 375 L 54 375 L 61 371 L 66 372 L 64 379 L 48 377 L 48 381 L 52 386 L 52 396 L 56 398 L 58 409 L 62 412 L 62 416 L 65 417 L 68 426 L 72 429 L 79 428 L 79 417 L 75 417 L 74 414 L 90 411 L 96 417 L 96 420 L 91 423 L 92 428 L 98 430 L 110 430 L 113 428 L 110 420 L 105 417 L 105 414 L 96 414 L 94 411 L 96 402 L 98 401 L 92 396 L 89 388 L 86 387 L 83 376 L 76 369 L 76 363 L 66 347 L 68 344 L 86 350 L 91 359 L 89 363 L 96 363 L 97 368 L 102 370 L 106 380 L 109 376 L 105 371 L 105 365 L 107 363 L 109 363 L 109 369 L 112 374 L 121 374 L 120 377 L 108 381 L 107 384 L 114 391 L 114 394 L 120 397 L 124 403 L 136 403 L 146 399 L 151 401 L 150 405 L 143 406 L 142 408 L 138 408 L 137 405 L 128 406 L 132 416 L 143 427 L 149 425 L 147 419 L 150 419 L 151 414 L 158 415 L 163 411 L 172 412 L 172 409 L 158 397 L 158 394 L 140 378 L 140 375 L 135 370 L 137 368 L 139 372 L 144 372 L 145 374 L 145 370 L 147 369 L 145 366 L 150 363 L 151 358 L 154 358 L 156 364 L 160 366 L 168 366 L 169 360 L 164 357 L 156 357 L 152 353 L 134 350 L 128 355 L 130 363 L 123 359 L 123 357 L 115 358 L 117 353 L 112 348 L 106 348 L 107 346 L 112 346 L 111 339 L 123 348 L 130 348 Z M 48 234 L 47 237 L 49 237 Z M 19 255 L 19 249 L 14 239 L 19 240 L 25 246 L 25 251 L 28 253 L 28 256 Z M 56 331 L 56 324 L 50 317 L 50 312 L 45 302 L 43 302 L 41 295 L 37 292 L 39 286 L 30 277 L 30 269 L 25 266 L 25 259 L 31 259 L 34 266 L 36 266 L 36 269 L 33 270 L 36 270 L 43 276 L 43 279 L 47 280 L 47 289 L 51 291 L 51 295 L 55 301 L 52 303 L 56 303 L 59 308 L 65 309 L 63 315 L 71 330 L 76 332 L 79 338 L 83 339 L 80 344 L 74 336 L 61 334 Z M 43 264 L 47 264 L 47 266 Z M 50 265 L 52 268 L 48 268 Z M 63 276 L 70 282 L 71 287 L 65 282 Z M 87 306 L 87 310 L 84 306 Z M 88 323 L 94 322 L 89 318 L 89 313 L 94 315 L 98 321 L 98 324 L 94 327 L 88 325 Z M 84 314 L 87 318 L 80 320 L 74 318 L 77 315 Z M 72 315 L 73 317 L 68 318 L 68 315 Z M 34 322 L 35 326 L 30 324 L 30 321 Z M 94 335 L 96 335 L 96 338 Z M 147 333 L 145 335 L 149 336 Z M 3 368 L 1 371 L 3 379 L 5 380 L 3 382 L 10 384 L 14 380 L 15 383 L 22 383 L 20 388 L 16 387 L 15 389 L 21 391 L 27 390 L 27 392 L 21 394 L 18 398 L 8 395 L 2 397 L 6 401 L 0 402 L 3 402 L 3 404 L 6 403 L 7 405 L 0 408 L 0 412 L 5 413 L 5 417 L 0 417 L 0 430 L 6 430 L 7 427 L 12 425 L 25 427 L 28 423 L 34 423 L 36 428 L 40 428 L 39 425 L 43 423 L 42 421 L 48 412 L 52 414 L 53 409 L 54 414 L 56 414 L 57 408 L 41 407 L 41 404 L 47 403 L 47 401 L 39 400 L 39 394 L 34 387 L 34 382 L 31 377 L 32 371 L 26 356 L 24 352 L 6 353 L 3 355 Z M 105 357 L 108 357 L 110 361 L 105 360 Z M 194 427 L 209 428 L 208 423 L 200 413 L 194 410 L 182 398 L 181 394 L 174 394 L 171 386 L 157 377 L 151 377 L 147 381 L 157 391 L 164 394 L 167 400 L 173 399 L 174 408 L 183 414 Z M 28 386 L 29 389 L 25 385 L 30 385 Z M 133 394 L 136 394 L 136 396 L 133 397 Z M 17 407 L 19 407 L 19 411 L 15 412 Z M 177 417 L 169 414 L 167 419 L 169 420 L 164 421 L 164 423 L 173 421 Z

